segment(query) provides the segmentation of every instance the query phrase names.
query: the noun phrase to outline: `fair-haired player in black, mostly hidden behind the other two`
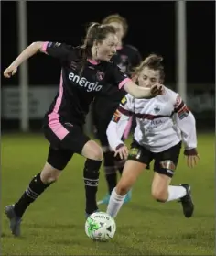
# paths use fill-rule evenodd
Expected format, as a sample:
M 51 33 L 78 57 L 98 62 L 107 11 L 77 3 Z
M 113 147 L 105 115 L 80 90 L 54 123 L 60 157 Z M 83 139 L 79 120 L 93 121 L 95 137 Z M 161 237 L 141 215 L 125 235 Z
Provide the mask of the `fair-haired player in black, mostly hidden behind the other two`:
M 141 62 L 141 56 L 139 51 L 131 45 L 124 44 L 124 37 L 127 33 L 128 24 L 124 17 L 118 14 L 113 14 L 103 19 L 103 24 L 112 25 L 118 37 L 118 45 L 116 48 L 116 54 L 114 54 L 112 61 L 118 65 L 122 72 L 130 76 L 133 68 L 138 66 Z M 110 85 L 110 87 L 104 88 L 106 94 L 104 97 L 97 97 L 93 103 L 93 120 L 97 131 L 97 139 L 103 148 L 103 169 L 105 173 L 106 182 L 108 185 L 108 193 L 103 197 L 100 204 L 108 204 L 110 195 L 113 188 L 117 184 L 117 170 L 120 174 L 123 172 L 124 160 L 114 158 L 113 151 L 110 150 L 109 143 L 106 136 L 106 129 L 109 122 L 113 117 L 113 113 L 119 105 L 121 99 L 126 92 L 120 91 L 117 87 Z M 128 125 L 124 132 L 124 139 L 129 135 L 130 127 L 132 125 L 132 117 L 130 118 Z M 128 202 L 131 199 L 131 190 L 127 193 L 124 202 Z

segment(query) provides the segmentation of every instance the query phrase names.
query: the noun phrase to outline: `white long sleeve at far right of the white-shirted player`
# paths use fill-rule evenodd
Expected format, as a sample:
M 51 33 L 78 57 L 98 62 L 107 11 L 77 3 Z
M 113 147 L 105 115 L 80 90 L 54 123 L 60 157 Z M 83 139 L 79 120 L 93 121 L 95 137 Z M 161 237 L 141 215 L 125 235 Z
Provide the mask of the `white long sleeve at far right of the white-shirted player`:
M 174 104 L 174 120 L 181 131 L 185 150 L 197 148 L 196 121 L 188 106 L 179 95 L 176 96 Z

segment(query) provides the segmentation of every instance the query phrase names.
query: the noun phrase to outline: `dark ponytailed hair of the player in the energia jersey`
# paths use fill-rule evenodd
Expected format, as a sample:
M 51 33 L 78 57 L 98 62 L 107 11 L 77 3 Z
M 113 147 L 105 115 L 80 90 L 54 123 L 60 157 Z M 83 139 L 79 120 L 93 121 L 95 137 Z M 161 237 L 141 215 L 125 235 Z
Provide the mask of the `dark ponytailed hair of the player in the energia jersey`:
M 102 25 L 97 22 L 91 23 L 86 32 L 83 44 L 81 45 L 81 72 L 87 59 L 92 58 L 92 46 L 94 41 L 102 42 L 108 34 L 115 34 L 115 28 L 111 25 Z

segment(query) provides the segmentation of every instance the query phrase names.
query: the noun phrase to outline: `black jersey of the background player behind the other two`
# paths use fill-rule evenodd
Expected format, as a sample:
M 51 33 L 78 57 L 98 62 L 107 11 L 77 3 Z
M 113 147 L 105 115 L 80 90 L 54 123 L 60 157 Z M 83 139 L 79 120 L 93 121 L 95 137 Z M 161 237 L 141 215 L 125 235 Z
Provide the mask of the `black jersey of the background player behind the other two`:
M 130 76 L 133 68 L 141 62 L 141 56 L 135 47 L 124 45 L 123 48 L 117 50 L 112 61 L 118 65 L 122 72 Z M 113 112 L 125 94 L 126 92 L 124 90 L 118 90 L 116 86 L 110 85 L 104 87 L 103 95 L 105 96 L 97 97 L 94 100 L 94 123 L 97 125 L 98 122 L 104 119 L 110 120 L 113 117 Z

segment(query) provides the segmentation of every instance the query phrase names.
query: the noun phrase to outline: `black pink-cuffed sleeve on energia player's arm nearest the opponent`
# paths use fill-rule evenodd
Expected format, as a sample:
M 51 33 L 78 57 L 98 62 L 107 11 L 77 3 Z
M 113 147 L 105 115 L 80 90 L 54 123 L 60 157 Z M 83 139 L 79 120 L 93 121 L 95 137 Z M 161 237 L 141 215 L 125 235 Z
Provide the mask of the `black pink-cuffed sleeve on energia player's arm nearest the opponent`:
M 110 66 L 110 72 L 109 72 L 109 82 L 115 86 L 118 86 L 119 89 L 124 88 L 124 84 L 127 82 L 130 82 L 131 79 L 120 70 L 120 68 L 112 64 Z

